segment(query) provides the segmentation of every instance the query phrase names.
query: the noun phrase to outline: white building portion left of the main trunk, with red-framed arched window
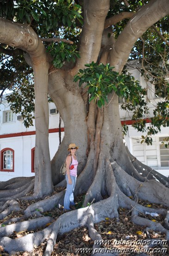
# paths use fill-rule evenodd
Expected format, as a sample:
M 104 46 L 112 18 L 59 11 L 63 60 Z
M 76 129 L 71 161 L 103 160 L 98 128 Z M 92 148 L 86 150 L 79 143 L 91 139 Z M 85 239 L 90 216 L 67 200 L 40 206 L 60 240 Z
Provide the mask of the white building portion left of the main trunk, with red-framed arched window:
M 49 103 L 49 112 L 49 146 L 52 159 L 60 144 L 59 114 L 54 103 Z M 63 131 L 64 128 L 61 128 L 61 140 Z M 0 182 L 34 175 L 35 133 L 35 126 L 25 128 L 22 117 L 13 114 L 4 98 L 0 104 Z

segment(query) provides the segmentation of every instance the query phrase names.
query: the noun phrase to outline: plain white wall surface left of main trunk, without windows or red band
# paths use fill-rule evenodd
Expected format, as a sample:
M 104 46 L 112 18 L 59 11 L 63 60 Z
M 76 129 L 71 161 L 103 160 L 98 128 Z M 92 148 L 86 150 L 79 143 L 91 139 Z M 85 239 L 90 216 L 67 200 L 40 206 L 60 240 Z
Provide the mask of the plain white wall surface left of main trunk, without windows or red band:
M 56 108 L 54 103 L 49 103 L 49 129 L 59 127 L 59 114 L 50 115 L 50 109 Z M 35 135 L 25 135 L 27 132 L 35 132 L 35 126 L 25 128 L 23 120 L 18 121 L 14 114 L 14 120 L 3 122 L 3 111 L 10 110 L 6 101 L 0 105 L 0 151 L 4 148 L 14 150 L 14 172 L 0 171 L 0 181 L 6 181 L 13 177 L 33 176 L 31 172 L 31 149 L 35 147 Z M 33 121 L 34 123 L 34 121 Z M 63 122 L 61 123 L 63 127 Z M 19 133 L 24 133 L 21 135 Z M 13 134 L 13 137 L 10 135 Z M 3 138 L 3 135 L 9 136 Z M 16 136 L 17 135 L 17 136 Z M 61 133 L 61 140 L 64 132 Z M 59 146 L 59 133 L 49 133 L 50 159 L 56 154 Z

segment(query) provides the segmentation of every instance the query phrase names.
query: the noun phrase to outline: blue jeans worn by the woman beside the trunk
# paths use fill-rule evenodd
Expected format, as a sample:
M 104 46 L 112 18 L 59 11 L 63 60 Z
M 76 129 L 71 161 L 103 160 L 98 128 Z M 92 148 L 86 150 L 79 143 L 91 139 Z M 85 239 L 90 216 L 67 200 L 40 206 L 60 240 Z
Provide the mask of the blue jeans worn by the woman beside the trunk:
M 70 205 L 75 205 L 73 192 L 75 190 L 76 177 L 70 175 L 70 178 L 72 180 L 72 184 L 69 184 L 68 175 L 66 174 L 67 187 L 64 196 L 64 209 L 66 210 L 70 210 Z

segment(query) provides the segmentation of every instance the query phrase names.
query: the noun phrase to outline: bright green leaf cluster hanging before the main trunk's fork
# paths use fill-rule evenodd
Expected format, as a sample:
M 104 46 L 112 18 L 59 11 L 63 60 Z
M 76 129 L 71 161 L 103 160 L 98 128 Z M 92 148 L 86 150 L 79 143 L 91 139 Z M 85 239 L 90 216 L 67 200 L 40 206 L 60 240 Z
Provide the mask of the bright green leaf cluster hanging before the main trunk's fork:
M 110 67 L 97 63 L 90 63 L 85 65 L 87 68 L 80 69 L 79 73 L 75 75 L 74 81 L 79 80 L 79 86 L 86 83 L 88 94 L 90 94 L 89 102 L 94 100 L 97 106 L 101 108 L 108 103 L 108 95 L 115 92 L 119 97 L 127 99 L 131 105 L 138 105 L 142 102 L 146 91 L 141 88 L 138 81 L 130 74 L 119 74 L 113 71 L 114 67 Z

